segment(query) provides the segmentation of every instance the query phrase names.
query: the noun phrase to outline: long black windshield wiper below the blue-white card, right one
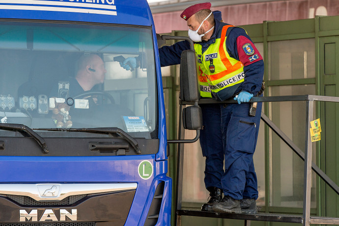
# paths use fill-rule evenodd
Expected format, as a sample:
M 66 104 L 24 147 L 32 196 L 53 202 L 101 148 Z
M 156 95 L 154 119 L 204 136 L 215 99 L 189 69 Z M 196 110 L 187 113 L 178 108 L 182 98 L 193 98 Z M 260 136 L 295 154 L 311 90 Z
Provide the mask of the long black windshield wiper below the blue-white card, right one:
M 132 136 L 128 135 L 124 130 L 117 127 L 108 128 L 39 128 L 34 130 L 45 130 L 45 131 L 69 131 L 69 132 L 90 132 L 90 133 L 104 133 L 104 134 L 118 134 L 125 138 L 134 148 L 137 154 L 141 154 L 141 150 L 138 145 L 138 141 Z

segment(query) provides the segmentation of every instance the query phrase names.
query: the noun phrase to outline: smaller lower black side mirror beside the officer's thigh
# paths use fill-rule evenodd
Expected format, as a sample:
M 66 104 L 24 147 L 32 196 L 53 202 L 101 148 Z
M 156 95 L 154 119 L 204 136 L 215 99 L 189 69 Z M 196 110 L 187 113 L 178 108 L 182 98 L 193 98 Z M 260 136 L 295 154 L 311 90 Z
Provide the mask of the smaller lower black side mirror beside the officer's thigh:
M 199 106 L 188 106 L 182 111 L 184 129 L 197 130 L 202 127 L 202 113 Z

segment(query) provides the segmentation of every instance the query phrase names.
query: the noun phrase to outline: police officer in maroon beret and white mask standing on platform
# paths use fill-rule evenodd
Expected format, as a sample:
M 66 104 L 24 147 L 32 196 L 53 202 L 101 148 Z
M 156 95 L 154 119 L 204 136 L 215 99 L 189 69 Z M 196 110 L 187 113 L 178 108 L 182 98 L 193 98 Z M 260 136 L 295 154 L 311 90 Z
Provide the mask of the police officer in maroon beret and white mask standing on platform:
M 210 192 L 209 201 L 201 209 L 256 213 L 258 191 L 253 154 L 261 103 L 252 117 L 248 102 L 260 92 L 264 64 L 246 31 L 214 19 L 210 7 L 209 2 L 195 4 L 180 15 L 187 21 L 189 37 L 195 42 L 200 95 L 220 101 L 234 98 L 238 103 L 215 104 L 214 108 L 201 105 L 200 144 L 206 157 L 204 182 Z M 161 65 L 180 64 L 181 52 L 188 49 L 188 41 L 160 48 Z M 128 58 L 121 65 L 129 69 L 128 62 L 137 65 L 136 58 Z M 222 200 L 219 189 L 224 194 Z

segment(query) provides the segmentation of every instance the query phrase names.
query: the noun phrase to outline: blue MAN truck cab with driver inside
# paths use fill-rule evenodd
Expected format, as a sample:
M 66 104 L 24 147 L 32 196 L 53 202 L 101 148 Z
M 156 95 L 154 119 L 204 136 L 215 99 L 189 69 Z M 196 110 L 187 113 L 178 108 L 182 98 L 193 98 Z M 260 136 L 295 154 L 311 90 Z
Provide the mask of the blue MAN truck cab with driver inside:
M 167 143 L 185 140 L 167 140 L 147 1 L 1 0 L 0 24 L 0 226 L 170 225 Z

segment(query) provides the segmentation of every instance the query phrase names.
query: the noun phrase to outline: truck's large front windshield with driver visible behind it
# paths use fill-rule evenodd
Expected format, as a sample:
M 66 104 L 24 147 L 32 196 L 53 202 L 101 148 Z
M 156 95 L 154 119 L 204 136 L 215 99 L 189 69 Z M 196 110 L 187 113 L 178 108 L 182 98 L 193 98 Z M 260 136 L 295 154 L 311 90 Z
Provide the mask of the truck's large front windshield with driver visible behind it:
M 149 28 L 3 22 L 1 123 L 117 127 L 133 137 L 157 138 L 152 40 Z M 119 61 L 128 57 L 139 67 L 122 68 Z M 42 136 L 56 133 L 67 132 Z

